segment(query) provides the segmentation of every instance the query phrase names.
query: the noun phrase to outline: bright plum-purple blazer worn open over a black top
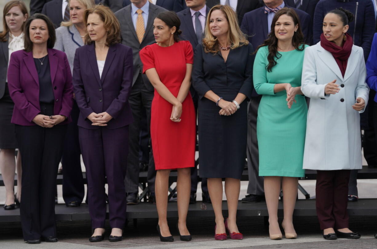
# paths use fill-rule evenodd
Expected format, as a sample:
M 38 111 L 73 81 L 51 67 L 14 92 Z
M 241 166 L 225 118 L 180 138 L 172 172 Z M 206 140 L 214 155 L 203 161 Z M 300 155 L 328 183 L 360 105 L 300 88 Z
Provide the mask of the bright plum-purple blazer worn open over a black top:
M 69 117 L 73 105 L 72 74 L 67 56 L 56 49 L 47 49 L 52 88 L 54 89 L 54 115 Z M 14 102 L 13 124 L 36 125 L 32 120 L 40 114 L 39 79 L 33 52 L 13 52 L 8 67 L 8 87 Z M 60 124 L 67 124 L 63 121 Z

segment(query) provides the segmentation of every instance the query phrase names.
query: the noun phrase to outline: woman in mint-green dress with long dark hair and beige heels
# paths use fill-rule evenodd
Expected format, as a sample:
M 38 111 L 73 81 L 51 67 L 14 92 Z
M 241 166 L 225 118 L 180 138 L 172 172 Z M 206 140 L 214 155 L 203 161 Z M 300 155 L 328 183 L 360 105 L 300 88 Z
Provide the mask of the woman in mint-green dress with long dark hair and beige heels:
M 280 186 L 285 238 L 297 237 L 292 216 L 298 177 L 305 174 L 302 162 L 308 110 L 300 90 L 305 47 L 299 17 L 293 9 L 282 8 L 276 12 L 268 39 L 257 48 L 254 61 L 254 88 L 262 95 L 257 118 L 259 176 L 264 176 L 273 240 L 282 238 L 277 221 Z

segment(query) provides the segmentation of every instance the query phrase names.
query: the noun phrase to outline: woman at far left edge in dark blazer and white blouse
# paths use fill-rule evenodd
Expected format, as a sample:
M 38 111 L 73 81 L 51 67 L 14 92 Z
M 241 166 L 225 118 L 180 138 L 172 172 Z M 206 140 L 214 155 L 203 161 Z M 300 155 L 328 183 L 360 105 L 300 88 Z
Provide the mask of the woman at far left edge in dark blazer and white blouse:
M 3 32 L 0 33 L 0 170 L 6 189 L 5 210 L 14 209 L 21 197 L 20 156 L 17 157 L 17 197 L 13 190 L 17 142 L 14 124 L 11 124 L 14 103 L 9 96 L 6 74 L 11 53 L 24 48 L 23 27 L 28 16 L 24 2 L 8 2 L 3 10 Z

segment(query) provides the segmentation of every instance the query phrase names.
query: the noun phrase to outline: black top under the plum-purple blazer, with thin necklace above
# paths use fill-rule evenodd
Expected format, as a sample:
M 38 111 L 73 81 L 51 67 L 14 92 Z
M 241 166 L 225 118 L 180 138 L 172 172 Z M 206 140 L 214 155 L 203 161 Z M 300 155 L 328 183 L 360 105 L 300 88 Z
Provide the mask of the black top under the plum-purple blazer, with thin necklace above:
M 41 62 L 43 64 L 41 64 Z M 39 102 L 41 103 L 54 103 L 55 96 L 52 90 L 50 63 L 48 55 L 42 58 L 34 58 L 35 67 L 38 72 L 39 80 Z

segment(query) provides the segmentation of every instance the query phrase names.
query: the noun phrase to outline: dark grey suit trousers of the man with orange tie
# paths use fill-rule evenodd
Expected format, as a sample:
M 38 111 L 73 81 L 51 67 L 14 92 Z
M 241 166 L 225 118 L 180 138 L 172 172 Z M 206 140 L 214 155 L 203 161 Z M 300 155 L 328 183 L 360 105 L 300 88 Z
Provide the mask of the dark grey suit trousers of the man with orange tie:
M 124 185 L 126 192 L 139 192 L 139 139 L 140 139 L 140 124 L 142 109 L 145 108 L 147 113 L 147 125 L 148 133 L 150 136 L 150 109 L 152 107 L 154 92 L 151 92 L 144 85 L 143 78 L 139 74 L 132 86 L 132 90 L 129 96 L 129 103 L 132 110 L 133 122 L 129 125 L 129 154 L 127 158 L 127 173 L 124 179 Z M 148 166 L 148 188 L 150 192 L 155 192 L 155 161 L 153 160 L 153 152 L 149 155 Z

